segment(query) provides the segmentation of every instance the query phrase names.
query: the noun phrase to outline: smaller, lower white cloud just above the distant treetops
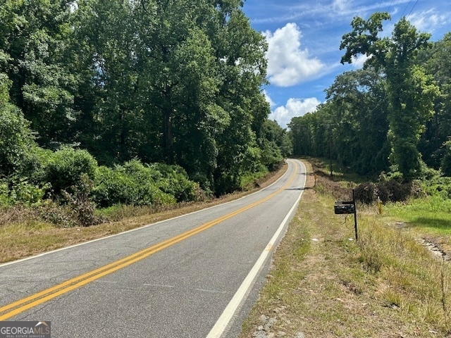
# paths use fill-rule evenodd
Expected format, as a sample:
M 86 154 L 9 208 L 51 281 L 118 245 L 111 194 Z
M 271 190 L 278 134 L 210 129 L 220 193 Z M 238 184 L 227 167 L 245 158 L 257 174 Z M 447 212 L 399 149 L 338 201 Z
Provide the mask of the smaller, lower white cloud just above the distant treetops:
M 307 113 L 316 111 L 316 107 L 321 102 L 316 97 L 309 99 L 288 99 L 285 106 L 276 108 L 275 111 L 269 115 L 270 120 L 276 120 L 280 127 L 287 127 L 292 118 L 302 116 Z

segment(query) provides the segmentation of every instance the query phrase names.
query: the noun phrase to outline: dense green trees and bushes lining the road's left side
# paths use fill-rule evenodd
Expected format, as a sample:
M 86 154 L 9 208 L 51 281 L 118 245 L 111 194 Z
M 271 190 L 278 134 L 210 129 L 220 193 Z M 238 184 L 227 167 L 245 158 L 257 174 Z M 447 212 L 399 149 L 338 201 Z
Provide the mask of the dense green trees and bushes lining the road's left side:
M 181 201 L 278 168 L 290 139 L 268 120 L 266 42 L 241 7 L 2 0 L 0 201 L 89 182 L 101 206 Z M 166 188 L 143 192 L 149 177 Z

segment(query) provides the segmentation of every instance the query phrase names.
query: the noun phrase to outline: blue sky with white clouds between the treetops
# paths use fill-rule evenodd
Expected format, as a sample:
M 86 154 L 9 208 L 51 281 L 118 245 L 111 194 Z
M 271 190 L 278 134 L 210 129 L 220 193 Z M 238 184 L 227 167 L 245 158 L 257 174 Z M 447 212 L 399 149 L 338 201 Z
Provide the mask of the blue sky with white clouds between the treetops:
M 282 127 L 323 103 L 324 90 L 337 75 L 362 66 L 364 58 L 340 63 L 341 38 L 351 31 L 354 16 L 366 20 L 377 11 L 390 13 L 384 35 L 391 35 L 402 16 L 420 32 L 431 33 L 431 41 L 451 31 L 450 0 L 246 0 L 243 10 L 268 42 L 271 84 L 264 91 L 270 118 Z

